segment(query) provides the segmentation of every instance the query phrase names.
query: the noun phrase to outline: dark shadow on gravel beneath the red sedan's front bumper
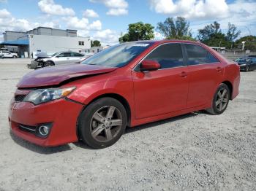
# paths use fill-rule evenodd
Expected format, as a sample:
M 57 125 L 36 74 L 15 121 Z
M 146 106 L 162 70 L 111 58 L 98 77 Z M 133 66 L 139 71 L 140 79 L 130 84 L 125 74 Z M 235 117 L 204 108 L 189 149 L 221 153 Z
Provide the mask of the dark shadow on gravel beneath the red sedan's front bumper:
M 59 147 L 42 147 L 37 144 L 33 144 L 29 141 L 26 141 L 24 139 L 21 139 L 18 136 L 15 136 L 15 134 L 12 133 L 12 130 L 10 130 L 10 136 L 11 136 L 12 140 L 15 141 L 15 143 L 20 145 L 21 147 L 24 147 L 33 152 L 37 152 L 37 153 L 43 154 L 43 155 L 50 155 L 50 154 L 57 153 L 57 152 L 65 152 L 65 151 L 72 149 L 69 146 L 69 144 L 64 144 Z

